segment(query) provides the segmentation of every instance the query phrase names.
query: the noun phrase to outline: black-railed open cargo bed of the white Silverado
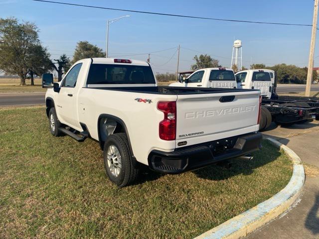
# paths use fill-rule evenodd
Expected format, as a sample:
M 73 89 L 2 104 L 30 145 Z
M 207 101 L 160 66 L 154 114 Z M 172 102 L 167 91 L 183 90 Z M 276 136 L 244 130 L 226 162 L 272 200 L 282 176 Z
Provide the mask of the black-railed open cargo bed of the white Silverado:
M 146 94 L 160 95 L 193 95 L 193 94 L 213 94 L 213 93 L 232 93 L 232 92 L 252 92 L 258 90 L 252 89 L 226 89 L 226 88 L 198 88 L 198 87 L 169 87 L 169 86 L 154 86 L 154 87 L 86 87 L 97 90 L 109 91 L 125 91 Z

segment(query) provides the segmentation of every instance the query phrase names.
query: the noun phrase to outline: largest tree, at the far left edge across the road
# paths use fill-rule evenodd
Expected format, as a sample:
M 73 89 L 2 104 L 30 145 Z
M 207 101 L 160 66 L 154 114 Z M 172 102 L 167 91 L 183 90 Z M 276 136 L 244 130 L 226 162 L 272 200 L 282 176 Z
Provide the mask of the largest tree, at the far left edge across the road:
M 18 75 L 22 86 L 30 69 L 32 49 L 37 45 L 40 45 L 38 28 L 33 23 L 0 18 L 0 70 Z

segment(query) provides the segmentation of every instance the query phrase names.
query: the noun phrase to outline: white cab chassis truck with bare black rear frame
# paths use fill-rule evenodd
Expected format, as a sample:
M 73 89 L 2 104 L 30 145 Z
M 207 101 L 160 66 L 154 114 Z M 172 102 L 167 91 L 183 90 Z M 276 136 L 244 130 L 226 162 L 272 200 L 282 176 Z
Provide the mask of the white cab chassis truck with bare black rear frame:
M 319 99 L 308 97 L 278 96 L 277 76 L 273 70 L 255 69 L 236 73 L 238 89 L 261 91 L 262 113 L 260 130 L 267 129 L 271 122 L 289 125 L 319 119 Z

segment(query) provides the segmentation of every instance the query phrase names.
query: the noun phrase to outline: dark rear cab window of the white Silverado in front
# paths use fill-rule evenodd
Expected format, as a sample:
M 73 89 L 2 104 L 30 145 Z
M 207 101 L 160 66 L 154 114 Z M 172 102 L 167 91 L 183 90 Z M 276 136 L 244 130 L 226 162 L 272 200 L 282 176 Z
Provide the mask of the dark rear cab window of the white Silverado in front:
M 149 66 L 91 64 L 86 84 L 156 84 L 156 82 Z

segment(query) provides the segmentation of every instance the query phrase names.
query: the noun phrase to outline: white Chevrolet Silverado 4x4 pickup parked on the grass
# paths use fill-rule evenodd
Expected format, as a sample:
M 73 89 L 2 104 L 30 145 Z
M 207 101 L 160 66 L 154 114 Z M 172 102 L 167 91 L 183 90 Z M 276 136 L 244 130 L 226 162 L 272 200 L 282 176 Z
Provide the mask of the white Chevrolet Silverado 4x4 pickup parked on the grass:
M 51 133 L 96 139 L 119 187 L 141 164 L 181 173 L 261 145 L 257 90 L 159 87 L 149 63 L 112 58 L 80 60 L 59 83 L 42 79 Z

